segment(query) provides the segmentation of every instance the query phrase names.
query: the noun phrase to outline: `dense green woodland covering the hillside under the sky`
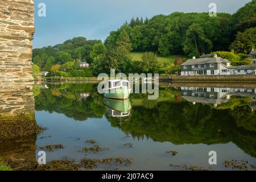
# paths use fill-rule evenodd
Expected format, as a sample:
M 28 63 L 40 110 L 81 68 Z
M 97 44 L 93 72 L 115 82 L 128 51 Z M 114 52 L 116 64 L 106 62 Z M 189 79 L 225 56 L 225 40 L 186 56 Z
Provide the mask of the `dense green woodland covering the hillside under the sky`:
M 199 57 L 218 53 L 234 65 L 250 64 L 246 55 L 256 45 L 256 0 L 233 15 L 217 13 L 179 13 L 156 15 L 151 19 L 132 18 L 108 38 L 87 40 L 77 37 L 63 44 L 33 49 L 34 69 L 55 76 L 90 77 L 115 68 L 123 73 L 174 73 L 179 65 L 166 68 L 156 55 Z M 130 52 L 144 52 L 141 61 L 133 61 Z M 80 68 L 86 61 L 90 68 Z M 170 60 L 171 61 L 171 60 Z

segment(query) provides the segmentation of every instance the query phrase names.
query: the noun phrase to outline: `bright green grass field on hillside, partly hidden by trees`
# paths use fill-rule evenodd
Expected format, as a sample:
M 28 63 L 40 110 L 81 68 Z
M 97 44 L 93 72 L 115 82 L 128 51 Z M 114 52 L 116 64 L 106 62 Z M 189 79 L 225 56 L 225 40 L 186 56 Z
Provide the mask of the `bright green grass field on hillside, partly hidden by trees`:
M 131 52 L 131 56 L 133 57 L 133 61 L 141 61 L 141 56 L 143 52 Z M 158 60 L 163 63 L 165 66 L 170 65 L 171 63 L 174 63 L 176 57 L 181 57 L 183 62 L 188 60 L 187 56 L 184 55 L 170 55 L 170 56 L 159 56 Z

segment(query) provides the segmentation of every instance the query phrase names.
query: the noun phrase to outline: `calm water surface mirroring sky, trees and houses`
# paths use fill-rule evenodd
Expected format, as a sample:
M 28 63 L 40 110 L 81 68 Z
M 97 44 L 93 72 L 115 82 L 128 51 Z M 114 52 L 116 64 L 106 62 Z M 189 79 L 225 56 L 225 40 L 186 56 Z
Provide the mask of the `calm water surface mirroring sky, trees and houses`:
M 51 83 L 37 86 L 34 95 L 36 122 L 48 129 L 36 145 L 65 147 L 47 152 L 47 161 L 133 159 L 128 166 L 118 166 L 122 170 L 182 169 L 170 164 L 226 170 L 230 168 L 225 168 L 225 160 L 232 159 L 256 164 L 255 89 L 160 86 L 156 101 L 131 94 L 122 104 L 104 101 L 94 84 Z M 113 117 L 111 109 L 118 108 L 128 115 Z M 85 142 L 89 139 L 109 151 L 83 152 L 83 147 L 92 146 Z M 217 152 L 217 165 L 209 165 L 209 151 Z

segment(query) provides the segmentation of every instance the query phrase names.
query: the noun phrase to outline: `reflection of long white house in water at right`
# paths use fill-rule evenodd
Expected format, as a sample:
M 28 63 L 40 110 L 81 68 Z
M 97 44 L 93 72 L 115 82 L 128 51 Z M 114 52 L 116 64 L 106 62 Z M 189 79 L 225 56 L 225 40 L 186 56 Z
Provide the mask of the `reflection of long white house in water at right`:
M 213 104 L 214 107 L 230 100 L 231 96 L 256 97 L 256 89 L 181 87 L 181 96 L 193 104 Z M 255 100 L 254 100 L 255 101 Z M 256 102 L 254 103 L 256 106 Z M 251 103 L 253 105 L 253 103 Z M 250 106 L 251 106 L 250 105 Z M 256 107 L 255 107 L 256 109 Z

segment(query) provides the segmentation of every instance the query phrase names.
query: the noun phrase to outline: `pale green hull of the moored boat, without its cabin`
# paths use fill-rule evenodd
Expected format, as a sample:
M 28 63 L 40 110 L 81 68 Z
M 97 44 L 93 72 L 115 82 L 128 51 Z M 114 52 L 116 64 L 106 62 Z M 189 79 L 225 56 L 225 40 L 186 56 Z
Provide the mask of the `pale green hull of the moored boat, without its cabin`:
M 127 100 L 130 96 L 131 89 L 124 87 L 124 88 L 115 88 L 106 90 L 104 92 L 104 97 L 106 98 L 113 98 L 117 100 Z

